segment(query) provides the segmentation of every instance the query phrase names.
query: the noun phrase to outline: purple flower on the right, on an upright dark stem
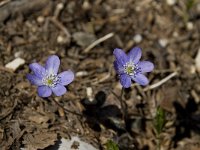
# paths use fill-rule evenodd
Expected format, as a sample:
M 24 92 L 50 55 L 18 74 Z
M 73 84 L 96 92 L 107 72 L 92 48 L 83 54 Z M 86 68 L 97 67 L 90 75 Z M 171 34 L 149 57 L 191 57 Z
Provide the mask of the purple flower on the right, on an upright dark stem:
M 149 61 L 139 61 L 142 52 L 138 47 L 134 47 L 128 53 L 119 48 L 113 52 L 116 60 L 114 61 L 114 68 L 120 76 L 120 83 L 124 88 L 131 86 L 131 80 L 140 85 L 147 85 L 149 80 L 143 75 L 145 72 L 151 72 L 154 69 L 153 63 Z

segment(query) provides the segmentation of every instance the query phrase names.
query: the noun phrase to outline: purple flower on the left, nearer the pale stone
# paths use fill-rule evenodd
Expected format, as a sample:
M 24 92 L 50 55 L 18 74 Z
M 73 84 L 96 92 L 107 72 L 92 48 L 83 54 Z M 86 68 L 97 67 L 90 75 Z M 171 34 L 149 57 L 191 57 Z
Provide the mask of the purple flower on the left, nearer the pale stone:
M 27 79 L 38 86 L 38 95 L 40 97 L 49 97 L 52 92 L 56 96 L 61 96 L 67 92 L 65 85 L 74 80 L 74 73 L 70 70 L 58 74 L 60 59 L 56 55 L 50 56 L 45 67 L 38 63 L 29 65 L 33 74 L 28 74 Z

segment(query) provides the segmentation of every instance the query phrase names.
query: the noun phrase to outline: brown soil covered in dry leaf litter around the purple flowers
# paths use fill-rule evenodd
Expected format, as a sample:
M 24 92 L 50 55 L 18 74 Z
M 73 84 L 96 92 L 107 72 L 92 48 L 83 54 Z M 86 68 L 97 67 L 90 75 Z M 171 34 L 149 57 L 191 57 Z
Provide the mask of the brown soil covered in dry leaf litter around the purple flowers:
M 155 69 L 149 86 L 125 89 L 123 118 L 112 53 L 134 46 Z M 198 0 L 0 0 L 0 149 L 48 149 L 78 135 L 97 149 L 113 140 L 122 150 L 155 150 L 160 107 L 161 149 L 199 150 L 199 48 Z M 64 96 L 43 99 L 26 75 L 52 54 L 76 78 Z M 17 57 L 25 64 L 5 67 Z

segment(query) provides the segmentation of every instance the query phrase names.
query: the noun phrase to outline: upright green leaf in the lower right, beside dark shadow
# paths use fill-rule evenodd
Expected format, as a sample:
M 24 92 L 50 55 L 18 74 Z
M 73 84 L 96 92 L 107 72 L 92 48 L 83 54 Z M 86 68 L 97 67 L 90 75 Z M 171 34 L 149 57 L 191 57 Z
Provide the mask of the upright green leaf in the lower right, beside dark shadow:
M 159 135 L 162 132 L 163 127 L 165 125 L 165 111 L 161 107 L 158 107 L 156 110 L 154 125 L 156 128 L 157 134 Z

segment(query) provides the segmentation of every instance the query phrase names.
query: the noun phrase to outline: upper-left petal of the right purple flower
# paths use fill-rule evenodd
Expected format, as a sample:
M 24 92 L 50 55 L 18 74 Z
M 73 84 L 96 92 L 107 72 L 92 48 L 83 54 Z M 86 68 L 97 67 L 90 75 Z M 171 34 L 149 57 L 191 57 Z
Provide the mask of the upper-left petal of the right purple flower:
M 115 55 L 117 62 L 121 65 L 124 65 L 127 62 L 127 55 L 123 50 L 116 48 L 114 49 L 113 54 Z

